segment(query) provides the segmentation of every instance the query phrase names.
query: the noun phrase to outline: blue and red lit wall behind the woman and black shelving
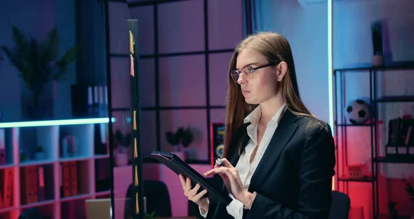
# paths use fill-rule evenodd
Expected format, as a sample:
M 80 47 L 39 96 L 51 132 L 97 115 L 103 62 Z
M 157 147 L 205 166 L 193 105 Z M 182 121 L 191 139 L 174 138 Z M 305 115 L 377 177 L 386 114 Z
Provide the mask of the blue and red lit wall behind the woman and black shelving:
M 370 65 L 373 48 L 370 22 L 385 19 L 383 39 L 388 65 L 414 59 L 413 1 L 333 1 L 333 68 Z M 258 1 L 258 29 L 276 31 L 288 39 L 295 58 L 302 100 L 317 117 L 328 120 L 328 20 L 327 1 Z M 378 95 L 413 95 L 413 70 L 378 73 Z M 369 97 L 369 77 L 362 72 L 346 76 L 344 102 Z M 339 96 L 338 96 L 339 98 Z M 340 109 L 339 109 L 340 110 Z M 382 105 L 379 109 L 379 154 L 384 155 L 388 119 L 403 114 L 413 116 L 412 103 Z M 347 128 L 348 164 L 370 164 L 370 128 Z M 340 136 L 339 136 L 340 137 Z M 342 168 L 342 166 L 340 166 Z M 368 165 L 370 169 L 370 165 Z M 387 213 L 388 201 L 408 214 L 413 203 L 403 191 L 402 178 L 412 179 L 412 164 L 380 164 L 380 210 Z M 412 180 L 411 180 L 412 181 Z M 353 207 L 363 207 L 365 218 L 372 218 L 372 192 L 369 183 L 349 183 Z M 398 197 L 398 198 L 397 198 Z

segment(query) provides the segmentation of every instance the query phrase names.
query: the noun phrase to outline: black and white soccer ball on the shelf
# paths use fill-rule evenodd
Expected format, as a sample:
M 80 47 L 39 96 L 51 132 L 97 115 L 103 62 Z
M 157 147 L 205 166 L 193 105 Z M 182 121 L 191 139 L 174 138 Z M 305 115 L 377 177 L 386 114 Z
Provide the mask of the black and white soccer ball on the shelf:
M 352 124 L 364 124 L 370 119 L 370 105 L 365 100 L 354 100 L 345 110 L 347 121 Z

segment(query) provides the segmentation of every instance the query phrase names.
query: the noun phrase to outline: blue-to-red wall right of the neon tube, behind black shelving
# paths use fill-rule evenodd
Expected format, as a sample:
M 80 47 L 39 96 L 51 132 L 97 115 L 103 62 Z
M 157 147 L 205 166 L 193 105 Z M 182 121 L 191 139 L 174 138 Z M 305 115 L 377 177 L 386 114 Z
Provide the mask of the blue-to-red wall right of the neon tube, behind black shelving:
M 414 60 L 413 1 L 333 1 L 333 67 L 369 66 L 373 54 L 370 23 L 385 20 L 384 53 L 387 65 Z M 414 70 L 377 72 L 378 96 L 414 95 Z M 369 97 L 369 77 L 366 72 L 345 73 L 344 103 Z M 385 155 L 389 119 L 403 114 L 414 116 L 413 102 L 379 104 L 378 147 Z M 367 163 L 370 170 L 370 128 L 348 128 L 348 164 Z M 413 184 L 413 164 L 379 164 L 380 213 L 388 212 L 388 203 L 396 202 L 401 215 L 408 215 L 413 201 L 403 190 L 402 179 Z M 369 183 L 349 183 L 352 206 L 363 207 L 365 218 L 372 218 L 372 192 Z

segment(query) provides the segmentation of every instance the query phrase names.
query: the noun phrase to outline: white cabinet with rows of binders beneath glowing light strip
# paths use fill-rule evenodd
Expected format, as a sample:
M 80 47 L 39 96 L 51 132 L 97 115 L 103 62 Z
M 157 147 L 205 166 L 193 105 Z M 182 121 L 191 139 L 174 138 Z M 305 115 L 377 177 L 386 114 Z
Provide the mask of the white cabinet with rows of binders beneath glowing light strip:
M 45 218 L 82 218 L 85 199 L 108 198 L 108 121 L 0 123 L 0 218 L 32 207 Z

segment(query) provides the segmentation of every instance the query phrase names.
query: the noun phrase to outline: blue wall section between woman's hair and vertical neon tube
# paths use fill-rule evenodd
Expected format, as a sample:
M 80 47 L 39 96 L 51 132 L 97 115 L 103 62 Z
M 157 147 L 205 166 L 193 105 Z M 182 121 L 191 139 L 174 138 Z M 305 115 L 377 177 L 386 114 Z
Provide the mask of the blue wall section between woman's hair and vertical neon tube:
M 326 2 L 257 1 L 259 31 L 274 31 L 288 39 L 293 52 L 299 93 L 307 108 L 329 121 L 328 11 Z

